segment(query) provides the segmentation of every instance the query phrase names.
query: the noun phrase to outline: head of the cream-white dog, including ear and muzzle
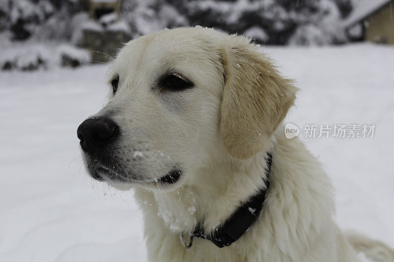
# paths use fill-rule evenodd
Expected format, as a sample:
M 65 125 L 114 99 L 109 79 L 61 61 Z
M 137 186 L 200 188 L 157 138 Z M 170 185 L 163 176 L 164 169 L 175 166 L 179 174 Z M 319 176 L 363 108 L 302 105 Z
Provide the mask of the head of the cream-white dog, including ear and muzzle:
M 263 150 L 296 92 L 248 39 L 203 28 L 129 42 L 109 83 L 108 104 L 77 131 L 88 172 L 150 189 Z

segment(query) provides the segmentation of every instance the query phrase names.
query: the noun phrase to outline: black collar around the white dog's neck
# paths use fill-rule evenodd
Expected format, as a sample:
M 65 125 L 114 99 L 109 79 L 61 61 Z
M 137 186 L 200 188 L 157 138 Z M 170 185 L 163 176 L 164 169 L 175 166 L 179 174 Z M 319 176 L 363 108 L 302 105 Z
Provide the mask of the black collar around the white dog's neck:
M 200 237 L 210 240 L 212 243 L 218 247 L 227 247 L 235 242 L 239 237 L 241 237 L 252 224 L 257 220 L 260 211 L 263 208 L 263 203 L 265 199 L 265 192 L 269 187 L 269 174 L 271 172 L 272 164 L 272 154 L 267 153 L 265 157 L 267 166 L 265 168 L 265 187 L 259 190 L 255 195 L 253 195 L 248 202 L 245 202 L 239 206 L 230 218 L 221 225 L 213 234 L 205 235 L 204 229 L 201 226 L 197 226 L 196 230 L 190 237 L 189 245 L 185 244 L 183 234 L 180 234 L 181 243 L 184 247 L 189 248 L 192 246 L 193 237 Z

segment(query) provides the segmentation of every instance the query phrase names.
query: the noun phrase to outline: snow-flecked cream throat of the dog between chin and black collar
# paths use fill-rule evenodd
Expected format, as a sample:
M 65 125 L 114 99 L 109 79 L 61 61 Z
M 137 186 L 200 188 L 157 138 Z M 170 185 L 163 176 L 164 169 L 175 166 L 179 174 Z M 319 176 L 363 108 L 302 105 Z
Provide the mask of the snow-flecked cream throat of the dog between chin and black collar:
M 157 208 L 157 215 L 170 232 L 192 234 L 198 225 L 209 234 L 220 227 L 241 203 L 265 187 L 265 159 L 271 151 L 272 146 L 248 160 L 211 163 L 194 171 L 193 181 L 175 191 L 138 194 L 137 190 L 136 196 L 141 203 Z

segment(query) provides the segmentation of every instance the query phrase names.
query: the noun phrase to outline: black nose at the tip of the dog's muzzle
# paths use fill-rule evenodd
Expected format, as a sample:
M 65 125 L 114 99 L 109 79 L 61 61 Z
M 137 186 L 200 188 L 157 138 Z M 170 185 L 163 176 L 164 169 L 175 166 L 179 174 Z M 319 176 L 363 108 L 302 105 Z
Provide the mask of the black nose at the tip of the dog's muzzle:
M 81 147 L 88 153 L 108 145 L 118 135 L 119 126 L 106 117 L 88 118 L 77 129 Z

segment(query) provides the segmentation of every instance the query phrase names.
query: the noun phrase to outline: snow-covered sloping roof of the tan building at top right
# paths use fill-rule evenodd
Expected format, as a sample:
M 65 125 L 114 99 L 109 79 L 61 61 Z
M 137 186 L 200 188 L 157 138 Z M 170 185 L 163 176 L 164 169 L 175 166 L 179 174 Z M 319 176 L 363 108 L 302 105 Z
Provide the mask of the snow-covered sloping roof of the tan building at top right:
M 356 3 L 353 11 L 343 22 L 343 25 L 345 28 L 352 27 L 391 1 L 393 0 L 359 0 Z

